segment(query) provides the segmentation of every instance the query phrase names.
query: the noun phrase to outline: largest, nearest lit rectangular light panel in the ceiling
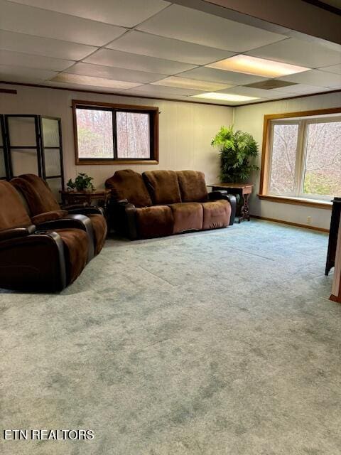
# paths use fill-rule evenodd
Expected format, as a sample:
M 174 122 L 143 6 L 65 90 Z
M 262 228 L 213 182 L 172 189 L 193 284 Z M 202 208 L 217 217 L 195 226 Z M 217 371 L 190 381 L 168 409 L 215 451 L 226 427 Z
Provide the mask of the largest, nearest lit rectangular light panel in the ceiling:
M 290 65 L 289 63 L 275 62 L 264 58 L 251 57 L 250 55 L 234 55 L 219 62 L 206 65 L 218 70 L 234 71 L 235 73 L 251 74 L 264 77 L 281 77 L 308 71 L 310 68 Z

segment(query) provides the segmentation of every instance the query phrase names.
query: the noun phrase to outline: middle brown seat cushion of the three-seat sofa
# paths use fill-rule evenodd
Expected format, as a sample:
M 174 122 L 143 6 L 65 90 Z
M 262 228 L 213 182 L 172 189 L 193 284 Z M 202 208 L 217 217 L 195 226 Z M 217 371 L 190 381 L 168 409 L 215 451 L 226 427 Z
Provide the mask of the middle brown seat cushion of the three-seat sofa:
M 186 230 L 202 229 L 202 204 L 197 202 L 183 202 L 169 205 L 173 212 L 173 234 Z

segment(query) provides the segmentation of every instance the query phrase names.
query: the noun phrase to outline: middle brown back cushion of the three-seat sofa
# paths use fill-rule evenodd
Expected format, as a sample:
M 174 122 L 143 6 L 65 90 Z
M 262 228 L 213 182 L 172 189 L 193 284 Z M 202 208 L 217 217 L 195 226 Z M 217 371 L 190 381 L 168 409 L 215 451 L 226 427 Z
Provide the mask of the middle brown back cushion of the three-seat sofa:
M 153 204 L 181 202 L 178 176 L 175 171 L 147 171 L 142 175 Z

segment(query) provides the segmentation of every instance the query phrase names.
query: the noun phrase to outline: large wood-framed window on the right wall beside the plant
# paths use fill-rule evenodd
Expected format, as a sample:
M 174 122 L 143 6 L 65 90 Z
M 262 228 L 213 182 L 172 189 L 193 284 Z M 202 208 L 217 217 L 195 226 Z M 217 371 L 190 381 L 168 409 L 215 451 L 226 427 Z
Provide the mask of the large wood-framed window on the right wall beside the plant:
M 290 116 L 266 116 L 259 196 L 322 203 L 340 197 L 341 114 Z

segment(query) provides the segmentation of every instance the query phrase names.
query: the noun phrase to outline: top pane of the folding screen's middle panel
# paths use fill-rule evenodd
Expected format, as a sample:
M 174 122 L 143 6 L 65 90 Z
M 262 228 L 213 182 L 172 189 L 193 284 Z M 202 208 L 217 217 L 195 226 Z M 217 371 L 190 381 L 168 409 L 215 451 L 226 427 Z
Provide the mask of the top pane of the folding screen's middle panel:
M 12 147 L 36 146 L 34 117 L 9 117 L 9 142 Z

